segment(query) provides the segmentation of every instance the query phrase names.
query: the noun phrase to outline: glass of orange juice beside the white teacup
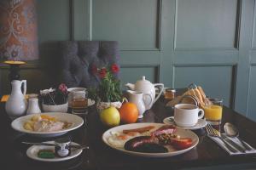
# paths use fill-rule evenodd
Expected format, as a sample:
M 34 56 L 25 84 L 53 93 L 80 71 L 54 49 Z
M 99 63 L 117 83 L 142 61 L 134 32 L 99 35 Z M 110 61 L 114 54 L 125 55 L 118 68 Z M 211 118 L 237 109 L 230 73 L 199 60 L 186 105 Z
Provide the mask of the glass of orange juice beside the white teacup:
M 222 119 L 222 108 L 223 108 L 223 99 L 208 98 L 211 101 L 211 105 L 203 106 L 205 111 L 205 118 L 208 123 L 212 126 L 220 126 Z

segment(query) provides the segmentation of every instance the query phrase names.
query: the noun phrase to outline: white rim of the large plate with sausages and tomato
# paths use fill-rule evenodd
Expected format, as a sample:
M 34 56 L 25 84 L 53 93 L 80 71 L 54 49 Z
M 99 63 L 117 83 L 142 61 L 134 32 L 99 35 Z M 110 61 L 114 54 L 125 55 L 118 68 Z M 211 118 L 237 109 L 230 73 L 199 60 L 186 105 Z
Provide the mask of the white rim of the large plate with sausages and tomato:
M 139 124 L 140 126 L 149 126 L 149 125 L 157 125 L 157 126 L 163 126 L 163 125 L 166 125 L 165 123 L 157 123 L 157 122 L 137 122 L 137 123 L 130 123 L 130 124 L 125 124 L 125 125 L 120 125 L 120 126 L 117 126 L 117 127 L 126 127 L 126 126 L 136 126 L 136 124 Z M 187 149 L 184 149 L 184 150 L 177 150 L 175 151 L 175 153 L 173 154 L 173 152 L 167 152 L 167 153 L 146 153 L 146 152 L 136 152 L 136 151 L 130 151 L 130 150 L 125 150 L 125 149 L 121 149 L 121 148 L 118 148 L 118 147 L 114 147 L 113 145 L 111 144 L 108 144 L 108 139 L 104 138 L 105 135 L 107 135 L 107 133 L 113 131 L 113 129 L 116 128 L 116 127 L 112 127 L 112 128 L 109 128 L 107 131 L 105 131 L 103 134 L 102 134 L 102 141 L 107 144 L 109 147 L 113 148 L 114 150 L 119 150 L 125 154 L 128 154 L 128 155 L 131 155 L 131 156 L 143 156 L 143 157 L 168 157 L 168 156 L 177 156 L 177 155 L 180 155 L 180 154 L 183 154 L 189 150 L 192 150 L 193 148 L 195 148 L 195 146 L 199 143 L 199 138 L 198 136 L 192 132 L 191 130 L 189 129 L 184 129 L 182 127 L 177 127 L 181 130 L 184 130 L 184 131 L 189 131 L 189 133 L 191 133 L 194 137 L 195 137 L 195 144 L 193 144 L 192 146 L 190 146 L 189 148 Z

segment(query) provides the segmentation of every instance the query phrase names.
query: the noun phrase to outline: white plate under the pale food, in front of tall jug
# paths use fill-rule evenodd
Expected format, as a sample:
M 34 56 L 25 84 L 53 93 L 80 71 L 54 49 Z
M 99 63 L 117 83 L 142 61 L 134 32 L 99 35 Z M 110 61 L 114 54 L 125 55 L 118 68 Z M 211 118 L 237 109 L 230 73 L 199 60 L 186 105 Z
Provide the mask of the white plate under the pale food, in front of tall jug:
M 35 131 L 30 131 L 30 130 L 26 130 L 23 125 L 25 122 L 27 122 L 28 120 L 30 120 L 32 118 L 32 116 L 34 115 L 27 115 L 27 116 L 20 116 L 19 118 L 16 118 L 11 126 L 16 130 L 19 131 L 21 133 L 28 133 L 28 134 L 32 134 L 34 136 L 38 136 L 38 137 L 55 137 L 55 136 L 60 136 L 64 133 L 67 133 L 71 130 L 74 130 L 78 127 L 81 127 L 84 123 L 84 120 L 80 117 L 80 116 L 76 116 L 73 114 L 69 114 L 69 113 L 60 113 L 60 112 L 51 112 L 51 113 L 42 113 L 40 115 L 48 115 L 48 116 L 53 116 L 55 117 L 57 120 L 62 121 L 62 122 L 71 122 L 72 125 L 68 128 L 59 130 L 59 131 L 55 131 L 55 132 L 35 132 Z

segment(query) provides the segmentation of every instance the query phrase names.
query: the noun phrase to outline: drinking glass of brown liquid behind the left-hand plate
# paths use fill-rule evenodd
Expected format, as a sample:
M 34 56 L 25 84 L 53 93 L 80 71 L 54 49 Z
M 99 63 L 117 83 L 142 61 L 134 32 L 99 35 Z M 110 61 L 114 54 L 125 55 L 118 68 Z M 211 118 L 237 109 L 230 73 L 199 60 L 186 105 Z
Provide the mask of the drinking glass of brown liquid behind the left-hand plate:
M 88 99 L 86 90 L 72 91 L 72 113 L 86 114 L 88 107 Z

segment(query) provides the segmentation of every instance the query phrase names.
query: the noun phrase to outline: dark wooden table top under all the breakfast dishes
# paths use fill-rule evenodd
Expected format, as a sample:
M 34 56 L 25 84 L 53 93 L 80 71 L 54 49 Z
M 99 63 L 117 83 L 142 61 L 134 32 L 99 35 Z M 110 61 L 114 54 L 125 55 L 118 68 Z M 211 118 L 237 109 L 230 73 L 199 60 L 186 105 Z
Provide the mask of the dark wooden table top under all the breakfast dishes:
M 165 107 L 165 100 L 157 101 L 150 111 L 144 113 L 142 120 L 138 122 L 162 122 L 166 116 L 172 116 L 172 108 Z M 145 158 L 128 156 L 117 150 L 109 148 L 102 142 L 102 133 L 108 129 L 99 121 L 96 108 L 89 109 L 87 117 L 88 125 L 79 127 L 65 135 L 71 136 L 73 141 L 79 144 L 88 144 L 90 150 L 84 150 L 81 156 L 70 161 L 41 162 L 33 161 L 26 156 L 27 145 L 20 141 L 44 141 L 50 139 L 38 139 L 23 133 L 15 132 L 10 127 L 10 120 L 4 111 L 4 104 L 0 108 L 1 122 L 1 169 L 181 169 L 198 167 L 223 167 L 228 169 L 254 169 L 256 168 L 256 155 L 229 156 L 223 149 L 215 144 L 206 135 L 204 128 L 195 130 L 199 136 L 199 144 L 195 149 L 179 156 L 166 158 Z M 223 123 L 232 122 L 239 127 L 241 139 L 256 148 L 256 123 L 246 117 L 224 107 Z M 6 167 L 6 168 L 3 168 Z

